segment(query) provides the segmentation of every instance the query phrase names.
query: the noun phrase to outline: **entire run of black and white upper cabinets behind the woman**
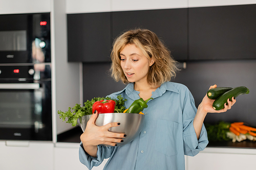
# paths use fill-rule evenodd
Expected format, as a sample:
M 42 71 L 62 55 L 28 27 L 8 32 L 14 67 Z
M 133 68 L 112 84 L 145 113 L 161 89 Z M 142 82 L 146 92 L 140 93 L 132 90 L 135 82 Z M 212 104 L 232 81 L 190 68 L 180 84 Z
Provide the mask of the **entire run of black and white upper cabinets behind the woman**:
M 134 28 L 155 32 L 178 61 L 256 59 L 256 4 L 250 0 L 96 2 L 66 1 L 69 61 L 109 62 L 114 39 Z

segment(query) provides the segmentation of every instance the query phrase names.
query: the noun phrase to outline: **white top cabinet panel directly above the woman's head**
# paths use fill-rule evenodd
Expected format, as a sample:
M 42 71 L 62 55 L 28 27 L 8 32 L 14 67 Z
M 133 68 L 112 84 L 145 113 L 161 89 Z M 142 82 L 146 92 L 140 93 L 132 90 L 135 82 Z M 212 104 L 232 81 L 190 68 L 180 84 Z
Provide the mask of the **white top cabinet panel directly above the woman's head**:
M 133 11 L 133 10 L 172 9 L 172 8 L 187 8 L 187 0 L 181 0 L 181 1 L 112 0 L 113 11 Z

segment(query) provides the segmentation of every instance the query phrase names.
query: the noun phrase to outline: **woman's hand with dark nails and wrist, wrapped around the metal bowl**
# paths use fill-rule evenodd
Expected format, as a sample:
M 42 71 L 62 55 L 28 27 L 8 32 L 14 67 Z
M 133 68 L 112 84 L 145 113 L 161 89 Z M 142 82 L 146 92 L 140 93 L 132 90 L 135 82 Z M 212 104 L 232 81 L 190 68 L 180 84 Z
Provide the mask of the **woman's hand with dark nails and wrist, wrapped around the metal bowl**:
M 119 123 L 109 123 L 100 127 L 96 126 L 95 120 L 97 116 L 97 111 L 96 113 L 92 114 L 87 123 L 86 129 L 80 136 L 84 150 L 89 155 L 94 157 L 96 157 L 98 144 L 108 144 L 115 146 L 117 142 L 122 142 L 122 138 L 126 136 L 124 133 L 114 133 L 109 131 L 109 128 L 119 126 Z

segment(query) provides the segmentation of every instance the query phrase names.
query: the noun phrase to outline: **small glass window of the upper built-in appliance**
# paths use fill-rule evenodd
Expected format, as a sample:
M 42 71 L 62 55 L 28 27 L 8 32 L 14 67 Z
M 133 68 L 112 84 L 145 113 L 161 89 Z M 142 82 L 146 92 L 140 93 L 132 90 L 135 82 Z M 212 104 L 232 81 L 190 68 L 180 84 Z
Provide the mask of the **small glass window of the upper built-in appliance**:
M 0 31 L 0 51 L 27 51 L 27 31 Z

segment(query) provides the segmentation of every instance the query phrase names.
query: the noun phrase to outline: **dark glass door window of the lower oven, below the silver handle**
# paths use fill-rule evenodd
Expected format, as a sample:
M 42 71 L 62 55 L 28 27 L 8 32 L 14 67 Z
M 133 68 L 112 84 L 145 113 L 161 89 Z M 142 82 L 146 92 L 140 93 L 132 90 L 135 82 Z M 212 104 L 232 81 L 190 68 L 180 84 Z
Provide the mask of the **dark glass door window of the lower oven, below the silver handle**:
M 42 128 L 42 91 L 0 91 L 0 127 Z

